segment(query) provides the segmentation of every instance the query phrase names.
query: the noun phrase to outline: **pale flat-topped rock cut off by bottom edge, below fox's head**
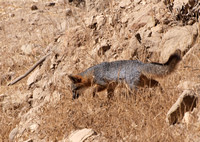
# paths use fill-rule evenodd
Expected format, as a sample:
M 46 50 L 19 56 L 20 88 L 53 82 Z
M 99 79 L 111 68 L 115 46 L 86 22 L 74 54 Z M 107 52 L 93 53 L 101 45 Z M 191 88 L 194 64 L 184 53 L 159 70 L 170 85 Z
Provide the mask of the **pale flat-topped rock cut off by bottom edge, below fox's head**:
M 92 135 L 95 135 L 96 133 L 92 129 L 82 129 L 74 131 L 72 134 L 69 135 L 68 140 L 70 142 L 83 142 L 87 138 L 89 138 Z

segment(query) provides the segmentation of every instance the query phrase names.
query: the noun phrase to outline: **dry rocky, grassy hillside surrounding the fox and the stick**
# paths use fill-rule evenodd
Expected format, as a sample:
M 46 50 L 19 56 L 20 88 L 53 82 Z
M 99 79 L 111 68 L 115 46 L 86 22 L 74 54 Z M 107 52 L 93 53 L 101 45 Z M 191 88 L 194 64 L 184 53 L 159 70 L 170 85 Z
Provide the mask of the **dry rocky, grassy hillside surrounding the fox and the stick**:
M 198 0 L 0 1 L 0 140 L 200 141 L 199 9 Z M 163 63 L 176 49 L 177 70 L 136 98 L 118 87 L 111 101 L 90 89 L 72 100 L 71 73 Z

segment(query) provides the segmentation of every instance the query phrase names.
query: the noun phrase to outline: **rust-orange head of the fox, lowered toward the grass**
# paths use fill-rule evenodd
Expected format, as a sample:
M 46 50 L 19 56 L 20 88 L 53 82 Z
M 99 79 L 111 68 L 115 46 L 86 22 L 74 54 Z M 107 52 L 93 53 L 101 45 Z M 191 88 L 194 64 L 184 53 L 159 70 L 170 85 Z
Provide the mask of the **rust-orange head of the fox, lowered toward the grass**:
M 86 87 L 91 86 L 91 81 L 81 75 L 68 75 L 68 77 L 72 82 L 71 89 L 73 99 L 77 99 Z

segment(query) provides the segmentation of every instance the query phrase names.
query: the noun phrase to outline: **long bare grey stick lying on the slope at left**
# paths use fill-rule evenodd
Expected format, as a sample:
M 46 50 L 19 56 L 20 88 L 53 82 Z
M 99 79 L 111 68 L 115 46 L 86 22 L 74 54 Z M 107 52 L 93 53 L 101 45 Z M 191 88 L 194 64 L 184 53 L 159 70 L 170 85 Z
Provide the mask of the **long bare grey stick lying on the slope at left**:
M 27 75 L 29 75 L 38 65 L 40 65 L 42 62 L 45 61 L 45 59 L 51 54 L 48 53 L 47 55 L 43 56 L 39 61 L 37 61 L 32 68 L 30 68 L 25 74 L 19 76 L 18 78 L 16 78 L 15 80 L 11 81 L 10 83 L 8 83 L 8 86 L 10 85 L 14 85 L 15 83 L 17 83 L 18 81 L 22 80 L 23 78 L 25 78 Z

